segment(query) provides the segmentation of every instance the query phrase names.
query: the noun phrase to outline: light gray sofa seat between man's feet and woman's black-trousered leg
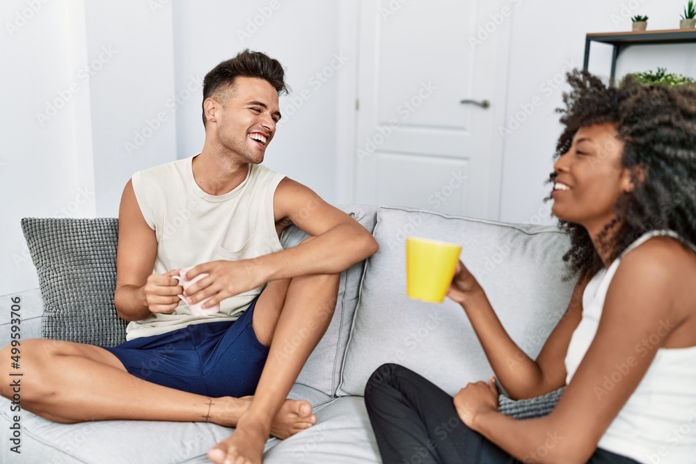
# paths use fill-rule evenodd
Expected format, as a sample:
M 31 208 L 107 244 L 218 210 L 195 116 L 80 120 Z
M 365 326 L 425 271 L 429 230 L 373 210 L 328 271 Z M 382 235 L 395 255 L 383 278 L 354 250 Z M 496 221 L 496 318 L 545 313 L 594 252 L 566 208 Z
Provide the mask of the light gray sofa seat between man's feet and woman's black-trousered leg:
M 264 464 L 381 463 L 363 397 L 342 397 L 317 410 L 317 424 L 279 442 Z

